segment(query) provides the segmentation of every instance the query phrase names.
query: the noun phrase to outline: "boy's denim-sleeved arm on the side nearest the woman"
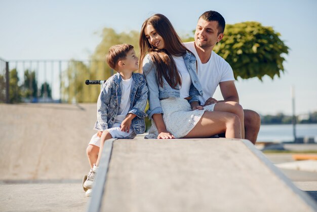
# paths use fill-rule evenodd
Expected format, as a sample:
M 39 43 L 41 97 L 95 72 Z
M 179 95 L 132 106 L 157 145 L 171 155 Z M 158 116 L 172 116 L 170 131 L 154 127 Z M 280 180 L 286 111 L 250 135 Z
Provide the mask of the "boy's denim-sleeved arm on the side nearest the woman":
M 138 90 L 140 91 L 140 97 L 133 105 L 133 108 L 129 111 L 129 114 L 134 114 L 135 116 L 139 117 L 140 119 L 145 118 L 147 115 L 144 113 L 146 102 L 147 102 L 147 93 L 148 88 L 146 85 L 146 81 L 142 75 L 143 81 L 140 83 L 140 87 Z M 134 117 L 133 117 L 134 118 Z

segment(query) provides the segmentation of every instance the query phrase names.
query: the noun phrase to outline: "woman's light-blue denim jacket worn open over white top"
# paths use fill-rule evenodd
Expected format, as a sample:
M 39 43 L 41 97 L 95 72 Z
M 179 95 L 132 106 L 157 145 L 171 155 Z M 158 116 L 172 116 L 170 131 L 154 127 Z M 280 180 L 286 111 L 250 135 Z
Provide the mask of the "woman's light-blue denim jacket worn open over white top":
M 191 52 L 186 52 L 183 55 L 185 65 L 188 69 L 188 73 L 191 78 L 191 85 L 189 89 L 189 103 L 192 101 L 199 102 L 199 95 L 203 95 L 203 88 L 200 84 L 197 74 L 196 74 L 196 57 Z M 149 110 L 146 112 L 149 118 L 153 114 L 163 114 L 160 99 L 165 99 L 168 97 L 180 97 L 179 85 L 173 89 L 167 81 L 163 78 L 163 87 L 159 86 L 159 81 L 156 77 L 156 66 L 153 64 L 149 55 L 146 55 L 143 60 L 142 65 L 143 74 L 147 81 L 147 86 L 149 89 L 148 100 L 149 100 Z

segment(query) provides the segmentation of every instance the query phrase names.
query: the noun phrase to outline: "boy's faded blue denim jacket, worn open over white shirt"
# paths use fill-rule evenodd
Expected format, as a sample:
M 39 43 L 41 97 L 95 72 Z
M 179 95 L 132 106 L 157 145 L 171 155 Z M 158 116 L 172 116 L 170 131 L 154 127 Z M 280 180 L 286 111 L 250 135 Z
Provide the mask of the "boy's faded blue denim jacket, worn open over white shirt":
M 136 117 L 131 122 L 131 127 L 136 134 L 145 132 L 146 113 L 144 113 L 148 88 L 143 75 L 138 73 L 132 74 L 133 82 L 130 92 L 130 108 L 128 113 L 135 114 Z M 97 101 L 97 122 L 94 129 L 104 131 L 111 128 L 115 122 L 121 103 L 121 81 L 119 73 L 110 77 L 103 85 Z

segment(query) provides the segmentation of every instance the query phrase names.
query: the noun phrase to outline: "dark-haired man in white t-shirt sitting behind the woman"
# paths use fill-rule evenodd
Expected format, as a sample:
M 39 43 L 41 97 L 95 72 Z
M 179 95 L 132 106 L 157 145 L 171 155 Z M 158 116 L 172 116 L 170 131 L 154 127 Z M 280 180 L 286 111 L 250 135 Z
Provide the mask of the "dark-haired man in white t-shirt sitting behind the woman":
M 222 57 L 213 52 L 215 45 L 223 38 L 224 28 L 224 18 L 216 11 L 207 11 L 197 22 L 195 41 L 184 43 L 197 58 L 197 74 L 204 92 L 204 96 L 200 97 L 203 105 L 221 101 L 239 103 L 232 68 Z M 218 85 L 224 98 L 221 101 L 212 98 Z M 245 138 L 255 144 L 260 130 L 260 116 L 251 110 L 244 110 L 244 116 Z

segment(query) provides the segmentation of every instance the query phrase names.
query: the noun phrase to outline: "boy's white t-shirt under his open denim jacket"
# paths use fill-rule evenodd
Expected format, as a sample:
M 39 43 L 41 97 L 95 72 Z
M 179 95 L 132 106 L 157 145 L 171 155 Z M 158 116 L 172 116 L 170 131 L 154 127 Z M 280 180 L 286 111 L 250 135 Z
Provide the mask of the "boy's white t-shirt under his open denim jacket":
M 118 109 L 118 113 L 115 119 L 115 122 L 122 122 L 123 120 L 125 120 L 128 112 L 129 112 L 129 108 L 130 108 L 130 92 L 131 92 L 131 85 L 133 82 L 133 78 L 131 77 L 128 80 L 124 80 L 122 79 L 121 81 L 121 91 L 122 91 L 122 96 L 121 96 L 121 102 L 119 105 L 119 109 Z

